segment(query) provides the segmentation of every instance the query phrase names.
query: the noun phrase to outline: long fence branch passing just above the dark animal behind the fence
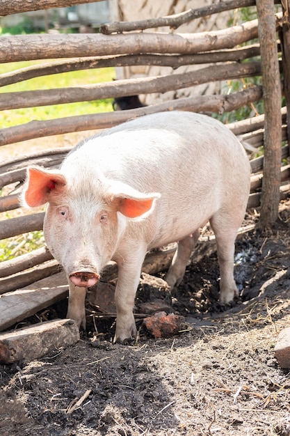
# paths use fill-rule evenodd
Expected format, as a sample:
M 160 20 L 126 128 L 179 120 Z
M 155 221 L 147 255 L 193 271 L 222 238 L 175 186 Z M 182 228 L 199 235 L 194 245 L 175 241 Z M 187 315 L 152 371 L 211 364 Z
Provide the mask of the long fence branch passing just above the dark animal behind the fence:
M 1 93 L 0 110 L 102 100 L 128 95 L 165 93 L 209 81 L 251 77 L 260 73 L 259 62 L 228 63 L 227 65 L 216 65 L 214 70 L 212 66 L 209 66 L 200 70 L 160 77 L 124 79 L 71 88 Z

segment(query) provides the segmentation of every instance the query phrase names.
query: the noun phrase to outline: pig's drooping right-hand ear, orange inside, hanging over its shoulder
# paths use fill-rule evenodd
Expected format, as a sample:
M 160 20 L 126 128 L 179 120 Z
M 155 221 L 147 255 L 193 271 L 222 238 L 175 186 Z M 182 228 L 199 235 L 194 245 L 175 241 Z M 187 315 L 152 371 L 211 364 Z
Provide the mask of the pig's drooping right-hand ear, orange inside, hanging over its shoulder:
M 156 199 L 161 196 L 158 192 L 143 194 L 143 192 L 138 192 L 136 189 L 120 182 L 118 182 L 118 190 L 115 184 L 113 188 L 111 187 L 110 190 L 114 201 L 117 203 L 118 212 L 132 219 L 145 218 L 147 215 L 150 215 L 154 209 Z M 112 193 L 112 190 L 114 193 Z

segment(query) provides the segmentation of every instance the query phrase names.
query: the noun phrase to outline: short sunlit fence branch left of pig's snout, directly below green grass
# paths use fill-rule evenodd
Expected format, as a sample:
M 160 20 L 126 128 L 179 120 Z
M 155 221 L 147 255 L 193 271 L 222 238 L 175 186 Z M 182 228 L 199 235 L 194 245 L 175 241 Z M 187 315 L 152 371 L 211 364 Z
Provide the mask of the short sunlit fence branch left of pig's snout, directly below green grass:
M 30 253 L 22 254 L 22 256 L 17 256 L 17 258 L 5 260 L 0 263 L 0 277 L 8 277 L 17 272 L 28 270 L 52 258 L 49 249 L 42 247 Z

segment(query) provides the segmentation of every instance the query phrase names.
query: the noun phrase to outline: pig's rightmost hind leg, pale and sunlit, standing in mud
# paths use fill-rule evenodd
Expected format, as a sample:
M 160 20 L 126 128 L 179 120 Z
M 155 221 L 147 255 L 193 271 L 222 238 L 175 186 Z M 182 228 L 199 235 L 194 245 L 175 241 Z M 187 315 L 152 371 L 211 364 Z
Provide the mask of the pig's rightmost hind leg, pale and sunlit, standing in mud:
M 234 281 L 234 248 L 236 233 L 239 230 L 239 217 L 217 213 L 210 219 L 211 228 L 216 235 L 218 265 L 220 267 L 220 303 L 227 304 L 238 296 Z

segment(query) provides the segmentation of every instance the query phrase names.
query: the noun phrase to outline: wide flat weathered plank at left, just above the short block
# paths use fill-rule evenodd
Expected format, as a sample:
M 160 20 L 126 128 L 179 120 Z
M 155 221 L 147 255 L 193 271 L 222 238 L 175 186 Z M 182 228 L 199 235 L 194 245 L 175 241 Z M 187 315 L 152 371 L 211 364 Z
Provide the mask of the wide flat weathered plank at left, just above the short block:
M 46 309 L 68 295 L 65 272 L 0 296 L 0 331 Z

